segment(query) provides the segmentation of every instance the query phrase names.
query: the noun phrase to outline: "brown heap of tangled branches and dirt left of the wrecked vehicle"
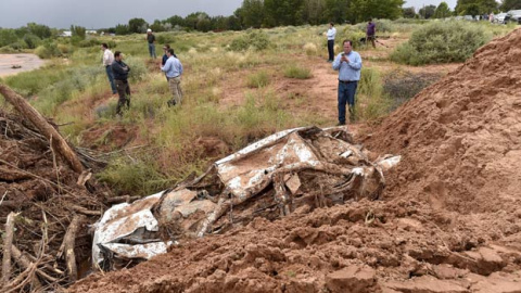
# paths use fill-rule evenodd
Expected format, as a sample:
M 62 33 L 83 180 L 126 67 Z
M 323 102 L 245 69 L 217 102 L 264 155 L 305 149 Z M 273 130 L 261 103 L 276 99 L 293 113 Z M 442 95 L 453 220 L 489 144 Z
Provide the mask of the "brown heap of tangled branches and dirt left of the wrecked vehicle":
M 84 164 L 88 161 L 84 157 Z M 7 292 L 59 289 L 77 279 L 67 271 L 65 252 L 61 249 L 65 233 L 73 218 L 78 218 L 74 238 L 76 260 L 89 258 L 88 225 L 100 217 L 105 206 L 102 190 L 92 180 L 78 184 L 78 177 L 80 175 L 50 148 L 50 141 L 26 118 L 0 110 L 2 234 L 8 215 L 17 214 L 13 227 L 11 283 L 3 288 Z M 4 253 L 2 245 L 2 255 Z M 29 263 L 20 263 L 20 258 Z

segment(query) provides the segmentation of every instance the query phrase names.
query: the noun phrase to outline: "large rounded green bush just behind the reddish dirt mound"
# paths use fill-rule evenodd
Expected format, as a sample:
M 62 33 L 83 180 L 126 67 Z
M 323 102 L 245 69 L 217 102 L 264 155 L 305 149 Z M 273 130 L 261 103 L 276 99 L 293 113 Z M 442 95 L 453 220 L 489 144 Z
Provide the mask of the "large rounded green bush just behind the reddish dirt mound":
M 391 60 L 410 65 L 463 62 L 492 38 L 481 27 L 466 22 L 431 23 L 412 31 Z

